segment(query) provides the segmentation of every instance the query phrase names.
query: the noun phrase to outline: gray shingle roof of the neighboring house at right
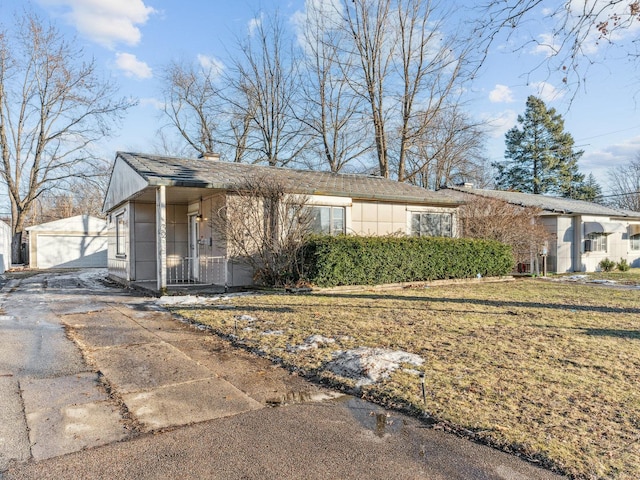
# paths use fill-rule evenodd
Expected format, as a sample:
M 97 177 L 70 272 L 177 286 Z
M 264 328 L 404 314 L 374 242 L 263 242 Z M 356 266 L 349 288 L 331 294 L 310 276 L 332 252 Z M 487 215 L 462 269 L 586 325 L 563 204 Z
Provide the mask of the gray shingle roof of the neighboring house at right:
M 551 197 L 547 195 L 534 195 L 531 193 L 510 192 L 503 190 L 484 190 L 469 187 L 447 187 L 440 190 L 447 195 L 453 195 L 458 200 L 468 199 L 468 195 L 479 195 L 489 198 L 497 198 L 514 205 L 523 207 L 536 207 L 550 213 L 560 213 L 565 215 L 603 215 L 608 217 L 630 217 L 640 219 L 640 212 L 632 212 L 612 207 L 607 207 L 592 202 L 582 200 L 572 200 L 569 198 Z

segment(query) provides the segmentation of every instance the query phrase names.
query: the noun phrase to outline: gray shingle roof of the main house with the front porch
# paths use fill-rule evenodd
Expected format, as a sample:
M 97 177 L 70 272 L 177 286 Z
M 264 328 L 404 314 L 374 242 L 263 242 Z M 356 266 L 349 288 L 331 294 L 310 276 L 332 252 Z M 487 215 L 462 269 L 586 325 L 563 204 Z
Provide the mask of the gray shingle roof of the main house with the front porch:
M 452 196 L 382 177 L 264 167 L 201 158 L 177 158 L 118 152 L 151 186 L 181 186 L 229 190 L 251 175 L 275 177 L 291 193 L 330 195 L 369 200 L 457 205 Z

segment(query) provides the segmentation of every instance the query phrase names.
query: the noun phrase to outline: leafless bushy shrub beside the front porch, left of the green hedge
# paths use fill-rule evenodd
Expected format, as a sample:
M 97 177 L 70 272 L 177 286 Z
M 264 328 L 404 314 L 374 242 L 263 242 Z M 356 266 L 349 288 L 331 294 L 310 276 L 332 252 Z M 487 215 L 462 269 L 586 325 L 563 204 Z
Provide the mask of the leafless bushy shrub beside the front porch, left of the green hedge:
M 210 220 L 220 232 L 230 258 L 240 258 L 254 280 L 282 286 L 295 280 L 311 212 L 304 196 L 287 193 L 270 175 L 252 175 L 227 195 L 225 206 Z

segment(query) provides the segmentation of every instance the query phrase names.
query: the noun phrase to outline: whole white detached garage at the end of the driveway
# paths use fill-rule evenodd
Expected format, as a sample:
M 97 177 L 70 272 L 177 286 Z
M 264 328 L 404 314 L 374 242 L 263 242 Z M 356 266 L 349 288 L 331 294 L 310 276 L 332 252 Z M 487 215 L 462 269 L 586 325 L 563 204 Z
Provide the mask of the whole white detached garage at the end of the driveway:
M 31 268 L 105 268 L 107 222 L 77 215 L 28 227 Z

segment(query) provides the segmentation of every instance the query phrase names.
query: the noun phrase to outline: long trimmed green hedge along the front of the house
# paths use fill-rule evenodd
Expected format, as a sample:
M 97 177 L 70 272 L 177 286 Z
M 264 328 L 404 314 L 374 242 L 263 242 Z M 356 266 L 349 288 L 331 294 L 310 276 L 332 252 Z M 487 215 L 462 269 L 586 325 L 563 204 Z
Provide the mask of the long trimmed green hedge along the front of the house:
M 319 287 L 501 276 L 514 265 L 511 247 L 467 238 L 316 236 L 303 252 Z

